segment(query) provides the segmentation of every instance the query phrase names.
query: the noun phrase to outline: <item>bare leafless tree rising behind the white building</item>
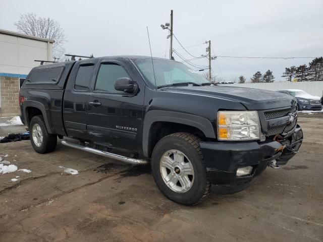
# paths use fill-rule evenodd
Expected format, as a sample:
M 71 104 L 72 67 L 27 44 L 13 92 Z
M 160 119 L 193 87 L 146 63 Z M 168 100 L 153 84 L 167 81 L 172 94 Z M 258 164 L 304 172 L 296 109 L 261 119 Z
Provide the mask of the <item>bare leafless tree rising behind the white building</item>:
M 52 48 L 53 56 L 61 58 L 64 54 L 65 48 L 63 44 L 66 38 L 63 28 L 56 20 L 38 17 L 34 13 L 27 13 L 20 15 L 15 26 L 21 33 L 55 40 Z

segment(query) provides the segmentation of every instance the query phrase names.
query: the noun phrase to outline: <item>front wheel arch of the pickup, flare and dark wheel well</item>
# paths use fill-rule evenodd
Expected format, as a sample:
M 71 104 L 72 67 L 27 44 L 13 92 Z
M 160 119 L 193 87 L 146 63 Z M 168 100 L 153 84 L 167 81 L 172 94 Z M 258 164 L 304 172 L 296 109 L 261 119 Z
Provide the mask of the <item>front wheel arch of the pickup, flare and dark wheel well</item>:
M 159 130 L 163 128 L 164 130 Z M 160 138 L 177 132 L 195 133 L 200 138 L 216 138 L 211 122 L 204 117 L 174 111 L 151 110 L 146 113 L 143 123 L 144 156 L 150 157 L 153 147 Z

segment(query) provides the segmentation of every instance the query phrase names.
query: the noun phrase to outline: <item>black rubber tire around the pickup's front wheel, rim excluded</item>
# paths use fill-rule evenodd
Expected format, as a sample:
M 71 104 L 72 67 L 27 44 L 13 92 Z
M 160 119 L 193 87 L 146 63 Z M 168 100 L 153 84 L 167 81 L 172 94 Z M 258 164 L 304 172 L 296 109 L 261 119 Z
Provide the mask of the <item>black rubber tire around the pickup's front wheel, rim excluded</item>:
M 194 182 L 191 188 L 178 193 L 169 188 L 160 172 L 160 159 L 169 150 L 176 149 L 186 155 L 194 169 Z M 157 187 L 170 200 L 184 204 L 200 203 L 210 193 L 211 184 L 206 175 L 199 139 L 189 133 L 175 133 L 158 141 L 151 156 L 151 170 Z

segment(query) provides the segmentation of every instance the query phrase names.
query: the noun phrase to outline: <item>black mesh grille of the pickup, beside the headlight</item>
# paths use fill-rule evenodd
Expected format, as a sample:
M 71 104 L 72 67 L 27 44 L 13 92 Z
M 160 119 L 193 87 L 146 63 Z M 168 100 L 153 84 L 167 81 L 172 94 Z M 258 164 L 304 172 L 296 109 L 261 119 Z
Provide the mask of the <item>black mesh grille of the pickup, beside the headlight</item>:
M 294 113 L 294 112 L 296 112 L 296 107 L 265 112 L 264 116 L 266 120 L 268 120 L 272 118 L 288 116 L 289 113 Z M 295 118 L 294 121 L 289 125 L 278 126 L 278 127 L 268 129 L 268 133 L 266 134 L 266 136 L 268 137 L 268 136 L 282 134 L 283 132 L 290 132 L 296 127 L 296 125 L 297 125 L 297 118 Z

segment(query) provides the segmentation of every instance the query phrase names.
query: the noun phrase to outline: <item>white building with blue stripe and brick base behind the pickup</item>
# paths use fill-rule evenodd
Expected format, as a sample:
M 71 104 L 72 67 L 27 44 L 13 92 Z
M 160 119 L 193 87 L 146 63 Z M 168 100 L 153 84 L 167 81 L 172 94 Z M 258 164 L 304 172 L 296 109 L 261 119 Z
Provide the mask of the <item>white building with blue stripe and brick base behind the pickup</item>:
M 0 117 L 19 115 L 20 81 L 40 61 L 52 61 L 53 40 L 0 29 Z

